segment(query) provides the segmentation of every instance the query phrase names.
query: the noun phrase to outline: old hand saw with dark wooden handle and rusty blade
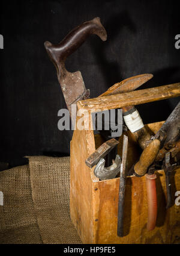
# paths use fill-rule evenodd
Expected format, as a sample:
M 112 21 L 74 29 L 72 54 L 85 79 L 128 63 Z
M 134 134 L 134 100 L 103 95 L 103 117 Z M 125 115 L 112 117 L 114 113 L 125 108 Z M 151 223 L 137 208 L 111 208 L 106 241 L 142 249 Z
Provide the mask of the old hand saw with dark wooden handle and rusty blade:
M 83 22 L 70 31 L 57 45 L 48 41 L 44 42 L 47 54 L 53 64 L 55 64 L 58 81 L 61 85 L 62 93 L 70 114 L 71 104 L 76 104 L 76 102 L 81 99 L 89 98 L 90 92 L 85 88 L 81 72 L 68 72 L 65 68 L 65 60 L 85 42 L 90 34 L 97 34 L 101 40 L 106 41 L 107 34 L 100 22 L 100 17 L 95 17 L 92 20 Z

